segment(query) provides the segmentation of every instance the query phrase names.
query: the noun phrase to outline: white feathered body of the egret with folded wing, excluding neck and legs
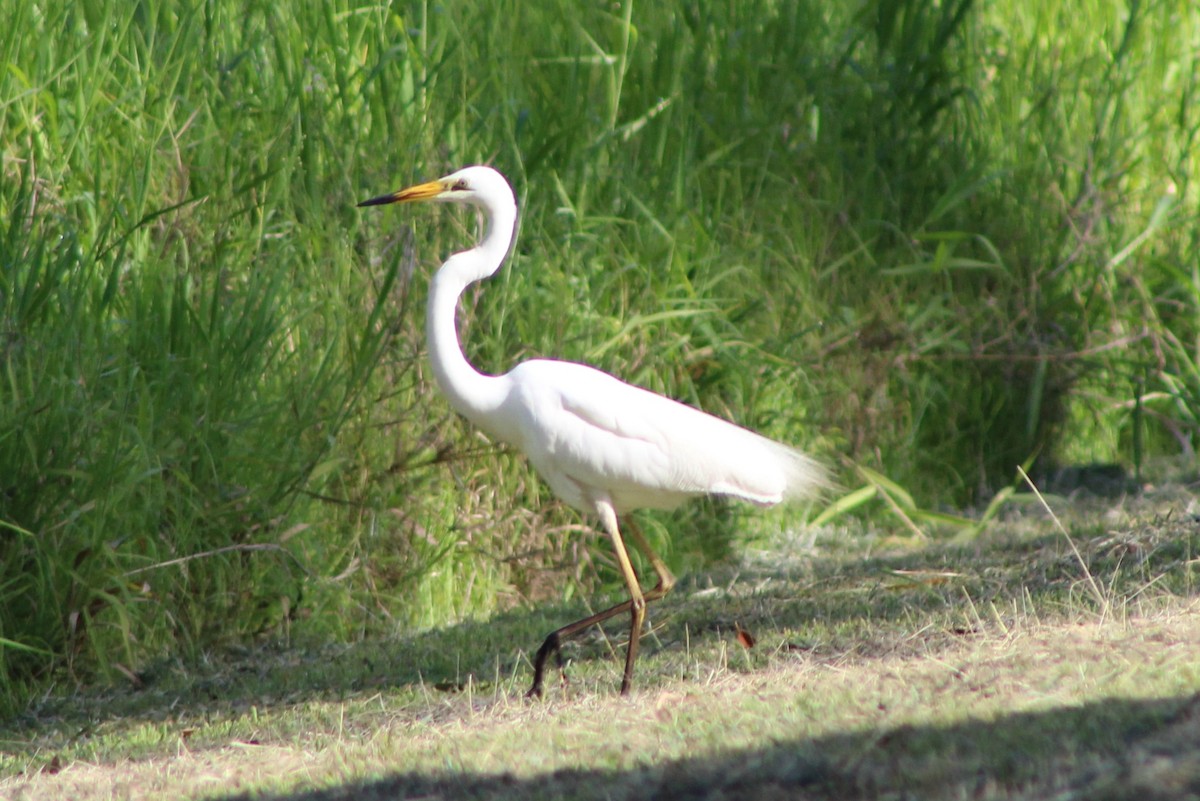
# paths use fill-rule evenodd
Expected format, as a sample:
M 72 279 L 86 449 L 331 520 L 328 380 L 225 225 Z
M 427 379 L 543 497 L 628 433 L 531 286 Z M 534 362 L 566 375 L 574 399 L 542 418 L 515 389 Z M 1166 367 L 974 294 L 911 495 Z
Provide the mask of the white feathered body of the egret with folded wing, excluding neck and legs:
M 568 478 L 623 508 L 709 493 L 774 504 L 821 484 L 799 451 L 584 365 L 535 360 L 509 377 L 522 447 L 559 494 Z

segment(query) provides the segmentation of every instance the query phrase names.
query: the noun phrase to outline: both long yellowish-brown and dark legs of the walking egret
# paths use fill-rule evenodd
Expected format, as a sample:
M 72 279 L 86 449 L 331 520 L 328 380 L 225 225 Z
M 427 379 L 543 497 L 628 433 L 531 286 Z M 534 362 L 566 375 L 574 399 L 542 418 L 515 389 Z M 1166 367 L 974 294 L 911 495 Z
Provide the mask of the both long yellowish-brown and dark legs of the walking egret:
M 630 648 L 625 652 L 625 674 L 620 683 L 620 692 L 623 694 L 629 692 L 629 687 L 632 681 L 632 674 L 634 674 L 634 661 L 637 658 L 637 638 L 641 636 L 642 621 L 644 620 L 646 616 L 646 603 L 648 603 L 649 601 L 656 601 L 661 598 L 662 596 L 665 596 L 667 592 L 671 591 L 671 588 L 674 586 L 676 583 L 674 576 L 672 576 L 671 571 L 667 570 L 666 564 L 661 559 L 659 559 L 659 555 L 654 553 L 653 548 L 650 548 L 650 543 L 647 542 L 646 536 L 642 534 L 641 529 L 638 529 L 637 525 L 635 525 L 631 519 L 626 518 L 625 529 L 632 535 L 634 544 L 636 544 L 637 548 L 643 554 L 646 554 L 647 559 L 650 560 L 650 565 L 654 567 L 654 572 L 659 577 L 659 583 L 654 586 L 654 589 L 648 590 L 643 594 L 641 591 L 641 588 L 638 586 L 637 576 L 636 573 L 634 573 L 634 567 L 629 562 L 629 554 L 625 552 L 625 544 L 622 541 L 620 530 L 617 526 L 617 517 L 616 514 L 612 514 L 611 526 L 608 522 L 605 519 L 605 517 L 606 517 L 605 514 L 601 514 L 601 519 L 605 522 L 605 528 L 608 530 L 610 536 L 612 536 L 613 538 L 613 547 L 617 550 L 617 560 L 618 562 L 622 564 L 622 573 L 625 574 L 626 584 L 629 584 L 629 586 L 631 588 L 630 589 L 631 597 L 629 601 L 618 603 L 602 612 L 598 612 L 594 615 L 589 615 L 583 620 L 578 620 L 574 624 L 563 626 L 562 628 L 552 632 L 541 644 L 541 648 L 538 649 L 538 655 L 534 657 L 533 687 L 530 687 L 529 692 L 527 693 L 530 698 L 541 697 L 542 680 L 546 671 L 546 660 L 550 658 L 551 654 L 554 655 L 554 658 L 558 662 L 558 669 L 559 674 L 562 675 L 563 683 L 566 683 L 566 673 L 563 669 L 563 654 L 562 654 L 563 642 L 578 634 L 588 626 L 604 622 L 605 620 L 608 620 L 610 618 L 619 615 L 624 612 L 630 612 L 634 615 L 634 620 L 630 621 L 632 625 L 632 631 L 630 632 L 630 639 L 629 639 Z M 640 603 L 635 601 L 635 597 L 640 600 Z M 641 607 L 640 613 L 636 610 L 637 607 Z

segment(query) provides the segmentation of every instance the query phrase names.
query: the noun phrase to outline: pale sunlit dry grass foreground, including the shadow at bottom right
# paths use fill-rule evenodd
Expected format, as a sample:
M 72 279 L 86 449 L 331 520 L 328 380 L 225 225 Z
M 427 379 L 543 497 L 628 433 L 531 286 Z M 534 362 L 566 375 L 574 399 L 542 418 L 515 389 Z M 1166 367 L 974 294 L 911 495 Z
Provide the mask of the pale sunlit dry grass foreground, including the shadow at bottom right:
M 394 710 L 378 695 L 373 712 L 320 701 L 290 712 L 323 721 L 294 739 L 272 736 L 266 722 L 262 740 L 193 751 L 176 730 L 169 753 L 77 761 L 0 789 L 14 799 L 224 797 L 264 787 L 275 788 L 270 797 L 313 799 L 1195 789 L 1196 643 L 1193 602 L 1103 625 L 1025 620 L 928 657 L 780 657 L 629 699 L 438 695 Z

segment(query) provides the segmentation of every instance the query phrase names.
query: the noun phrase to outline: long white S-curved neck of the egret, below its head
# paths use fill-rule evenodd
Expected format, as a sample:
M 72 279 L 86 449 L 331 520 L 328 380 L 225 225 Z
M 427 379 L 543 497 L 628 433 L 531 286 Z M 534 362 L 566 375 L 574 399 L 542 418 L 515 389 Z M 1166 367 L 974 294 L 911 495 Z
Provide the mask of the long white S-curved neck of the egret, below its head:
M 487 219 L 480 243 L 470 251 L 451 255 L 433 276 L 425 335 L 433 375 L 450 405 L 480 428 L 503 438 L 488 412 L 504 402 L 508 384 L 503 377 L 485 375 L 472 367 L 462 353 L 455 326 L 455 313 L 463 290 L 499 270 L 512 243 L 516 207 L 511 211 L 493 210 L 493 215 Z

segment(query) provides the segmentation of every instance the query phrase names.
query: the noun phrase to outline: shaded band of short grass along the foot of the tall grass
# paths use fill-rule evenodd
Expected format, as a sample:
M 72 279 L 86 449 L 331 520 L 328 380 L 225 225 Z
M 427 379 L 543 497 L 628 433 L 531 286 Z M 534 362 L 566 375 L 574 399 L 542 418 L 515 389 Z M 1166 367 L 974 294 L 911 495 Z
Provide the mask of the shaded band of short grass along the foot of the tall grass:
M 1196 592 L 1200 522 L 1194 517 L 1156 519 L 1120 532 L 1097 528 L 1080 531 L 1074 542 L 1079 555 L 1058 534 L 1034 534 L 989 537 L 970 546 L 926 543 L 890 553 L 875 547 L 874 555 L 864 556 L 860 544 L 836 540 L 820 546 L 818 554 L 742 564 L 685 579 L 652 607 L 655 633 L 643 640 L 637 682 L 650 687 L 678 679 L 697 652 L 715 661 L 714 654 L 726 645 L 737 649 L 736 625 L 760 639 L 752 660 L 746 655 L 744 662 L 754 669 L 780 650 L 800 651 L 810 662 L 841 664 L 847 658 L 936 654 L 980 626 L 1003 625 L 996 616 L 1006 610 L 1014 616 L 1020 608 L 1038 615 L 1062 609 L 1070 615 L 1110 603 L 1122 612 L 1122 604 L 1147 588 L 1175 596 Z M 1088 576 L 1103 588 L 1103 601 L 1090 597 Z M 983 619 L 980 609 L 988 610 Z M 482 692 L 500 682 L 503 692 L 520 693 L 532 676 L 528 656 L 542 637 L 586 613 L 578 604 L 551 604 L 403 639 L 260 646 L 204 666 L 162 663 L 143 671 L 137 687 L 47 699 L 38 709 L 0 723 L 0 740 L 24 742 L 29 751 L 55 749 L 107 721 L 178 719 L 180 710 L 204 718 L 236 715 L 251 705 L 344 700 L 392 688 L 452 691 L 468 681 Z M 614 655 L 625 625 L 613 621 L 610 642 L 592 632 L 571 643 L 572 677 L 604 674 L 602 681 L 614 687 L 619 670 Z

